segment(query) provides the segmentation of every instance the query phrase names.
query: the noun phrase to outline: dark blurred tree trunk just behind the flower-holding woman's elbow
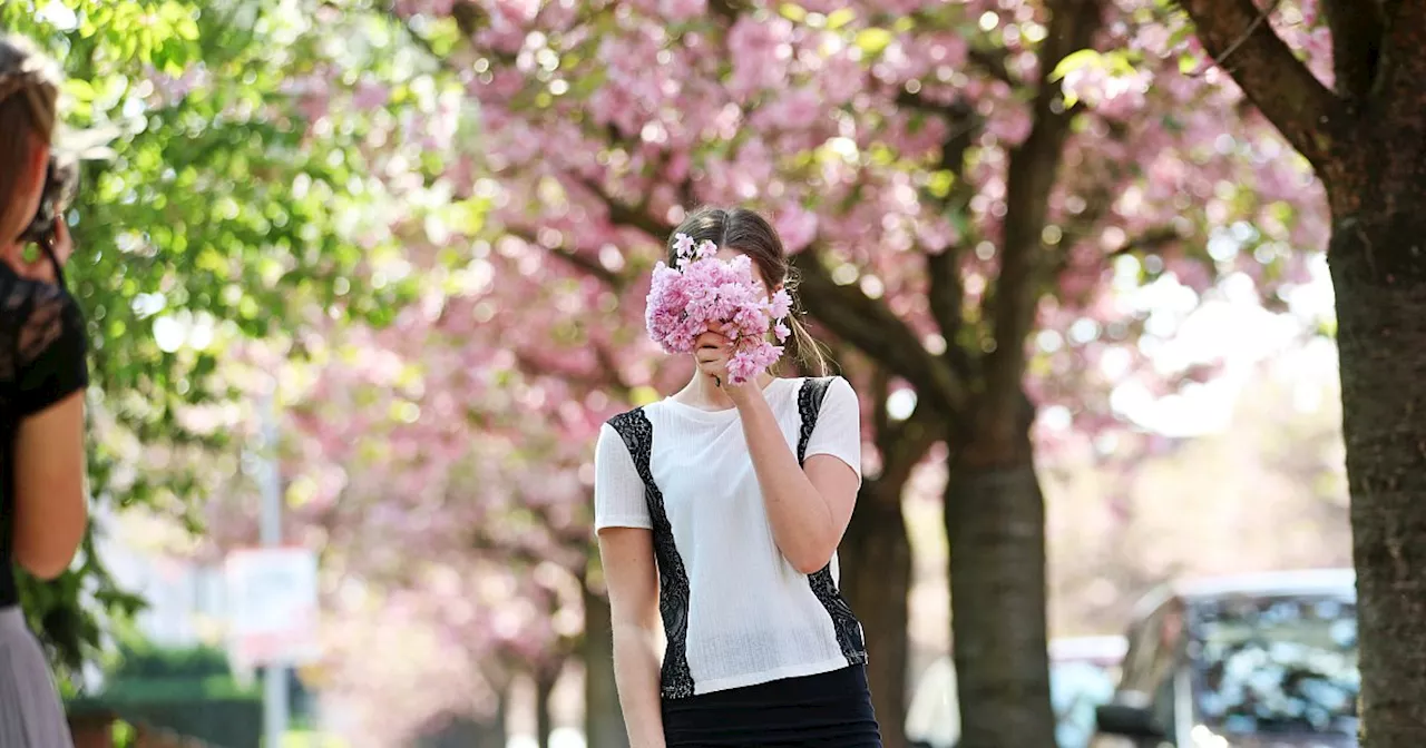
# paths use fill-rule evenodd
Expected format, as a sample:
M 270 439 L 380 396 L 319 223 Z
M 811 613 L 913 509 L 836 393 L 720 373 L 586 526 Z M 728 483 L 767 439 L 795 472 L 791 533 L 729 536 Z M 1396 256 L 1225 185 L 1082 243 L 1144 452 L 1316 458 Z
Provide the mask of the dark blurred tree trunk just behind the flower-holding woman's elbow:
M 901 514 L 904 486 L 866 482 L 837 551 L 841 590 L 861 620 L 867 643 L 867 682 L 884 748 L 906 747 L 911 543 Z

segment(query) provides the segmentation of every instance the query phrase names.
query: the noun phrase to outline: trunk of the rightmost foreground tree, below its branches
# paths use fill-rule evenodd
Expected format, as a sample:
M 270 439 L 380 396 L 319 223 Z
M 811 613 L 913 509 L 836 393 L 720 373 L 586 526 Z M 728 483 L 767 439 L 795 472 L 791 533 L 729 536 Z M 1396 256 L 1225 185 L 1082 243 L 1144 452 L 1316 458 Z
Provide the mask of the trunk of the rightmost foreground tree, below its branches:
M 1390 214 L 1393 204 L 1399 212 Z M 1328 256 L 1352 493 L 1363 745 L 1415 748 L 1426 745 L 1426 175 L 1415 189 L 1366 201 L 1352 219 L 1338 221 Z

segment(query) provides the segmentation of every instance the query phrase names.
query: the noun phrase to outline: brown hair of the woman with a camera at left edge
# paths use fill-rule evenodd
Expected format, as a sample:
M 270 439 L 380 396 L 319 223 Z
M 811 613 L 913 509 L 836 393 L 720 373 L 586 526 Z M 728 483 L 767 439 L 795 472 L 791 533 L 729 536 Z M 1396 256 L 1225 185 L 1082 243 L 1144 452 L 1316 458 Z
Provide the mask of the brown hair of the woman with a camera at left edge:
M 27 38 L 0 36 L 0 227 L 29 174 L 31 148 L 54 134 L 58 94 L 58 67 Z

